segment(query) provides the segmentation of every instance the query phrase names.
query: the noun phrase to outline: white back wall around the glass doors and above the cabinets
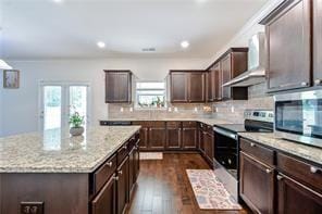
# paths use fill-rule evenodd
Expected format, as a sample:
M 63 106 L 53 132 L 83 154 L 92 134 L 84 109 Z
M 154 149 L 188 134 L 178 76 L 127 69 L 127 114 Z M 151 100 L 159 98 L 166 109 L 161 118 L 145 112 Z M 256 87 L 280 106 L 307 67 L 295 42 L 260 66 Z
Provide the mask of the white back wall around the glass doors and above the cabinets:
M 140 79 L 162 80 L 169 70 L 202 68 L 202 59 L 108 59 L 69 61 L 8 61 L 21 71 L 21 87 L 1 88 L 3 97 L 2 135 L 38 130 L 38 89 L 40 80 L 89 81 L 91 85 L 92 123 L 106 118 L 104 75 L 102 70 L 131 70 Z

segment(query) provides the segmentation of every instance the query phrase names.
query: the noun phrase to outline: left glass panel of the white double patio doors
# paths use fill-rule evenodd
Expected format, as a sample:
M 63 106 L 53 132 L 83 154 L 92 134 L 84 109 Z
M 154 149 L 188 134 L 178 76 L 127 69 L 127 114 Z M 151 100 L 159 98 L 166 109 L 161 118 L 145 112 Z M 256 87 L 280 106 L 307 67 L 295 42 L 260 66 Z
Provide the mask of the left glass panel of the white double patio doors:
M 44 86 L 42 105 L 44 130 L 60 128 L 62 125 L 62 87 Z

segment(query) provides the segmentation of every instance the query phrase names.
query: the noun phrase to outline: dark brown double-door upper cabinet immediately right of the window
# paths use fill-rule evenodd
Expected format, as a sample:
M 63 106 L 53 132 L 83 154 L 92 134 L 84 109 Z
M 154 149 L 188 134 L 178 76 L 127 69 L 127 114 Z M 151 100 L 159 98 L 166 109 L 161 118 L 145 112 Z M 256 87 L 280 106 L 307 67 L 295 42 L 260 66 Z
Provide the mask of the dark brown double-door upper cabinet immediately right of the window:
M 205 102 L 205 71 L 170 71 L 172 103 Z

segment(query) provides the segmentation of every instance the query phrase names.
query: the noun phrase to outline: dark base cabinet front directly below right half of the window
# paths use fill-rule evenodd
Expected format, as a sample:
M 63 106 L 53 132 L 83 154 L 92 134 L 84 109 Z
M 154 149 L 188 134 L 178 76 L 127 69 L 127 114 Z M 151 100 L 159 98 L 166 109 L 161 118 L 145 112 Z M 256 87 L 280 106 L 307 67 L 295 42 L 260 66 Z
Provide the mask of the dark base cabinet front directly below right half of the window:
M 149 128 L 149 149 L 164 150 L 166 143 L 166 129 L 164 122 L 153 122 Z

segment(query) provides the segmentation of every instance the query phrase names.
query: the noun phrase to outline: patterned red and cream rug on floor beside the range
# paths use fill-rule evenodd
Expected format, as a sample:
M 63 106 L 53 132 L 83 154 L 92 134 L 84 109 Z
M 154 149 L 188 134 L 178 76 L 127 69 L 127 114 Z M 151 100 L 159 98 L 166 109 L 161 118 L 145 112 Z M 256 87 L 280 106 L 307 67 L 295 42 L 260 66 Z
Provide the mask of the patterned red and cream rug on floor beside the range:
M 186 169 L 201 210 L 242 210 L 210 169 Z

